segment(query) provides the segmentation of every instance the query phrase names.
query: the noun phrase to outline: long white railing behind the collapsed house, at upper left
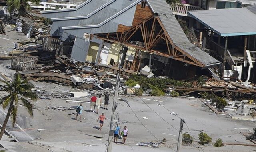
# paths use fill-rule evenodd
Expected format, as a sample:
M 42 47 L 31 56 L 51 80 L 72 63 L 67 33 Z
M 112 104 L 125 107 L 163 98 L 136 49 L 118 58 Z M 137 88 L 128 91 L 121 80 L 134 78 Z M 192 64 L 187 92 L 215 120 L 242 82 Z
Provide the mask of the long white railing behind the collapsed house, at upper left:
M 31 8 L 41 8 L 43 10 L 46 10 L 46 8 L 48 9 L 56 9 L 56 6 L 60 6 L 60 9 L 63 9 L 63 8 L 70 8 L 71 6 L 72 7 L 77 7 L 79 5 L 76 5 L 76 4 L 65 4 L 65 3 L 48 3 L 48 2 L 40 2 L 39 4 L 40 5 L 35 5 L 33 4 L 32 2 L 28 2 L 28 4 L 30 4 L 30 7 Z

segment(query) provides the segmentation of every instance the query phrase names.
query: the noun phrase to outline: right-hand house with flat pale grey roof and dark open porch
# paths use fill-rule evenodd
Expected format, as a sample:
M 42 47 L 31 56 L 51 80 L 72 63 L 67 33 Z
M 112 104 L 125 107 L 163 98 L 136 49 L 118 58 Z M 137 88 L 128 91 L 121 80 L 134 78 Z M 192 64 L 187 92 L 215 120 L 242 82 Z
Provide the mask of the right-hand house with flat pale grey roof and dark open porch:
M 189 11 L 203 47 L 223 63 L 220 74 L 256 81 L 256 5 L 246 8 Z M 194 18 L 194 19 L 193 19 Z

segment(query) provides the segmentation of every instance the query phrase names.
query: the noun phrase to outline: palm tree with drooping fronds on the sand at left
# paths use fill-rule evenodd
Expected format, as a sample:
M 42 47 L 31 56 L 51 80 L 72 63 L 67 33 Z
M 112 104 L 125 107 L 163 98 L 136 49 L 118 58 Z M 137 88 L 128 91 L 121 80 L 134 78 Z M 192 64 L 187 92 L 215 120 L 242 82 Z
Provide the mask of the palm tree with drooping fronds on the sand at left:
M 0 104 L 2 104 L 3 109 L 6 109 L 6 107 L 8 106 L 9 106 L 9 109 L 6 114 L 2 130 L 0 132 L 0 140 L 2 139 L 4 130 L 6 128 L 6 125 L 10 116 L 12 120 L 12 127 L 14 127 L 14 124 L 16 122 L 16 117 L 17 117 L 19 101 L 22 102 L 22 104 L 26 107 L 30 116 L 33 117 L 33 109 L 32 109 L 33 106 L 28 100 L 26 100 L 26 98 L 30 98 L 33 101 L 35 101 L 38 98 L 36 92 L 31 91 L 31 88 L 33 87 L 33 85 L 30 84 L 28 80 L 22 79 L 22 76 L 18 73 L 18 71 L 16 71 L 16 74 L 12 82 L 10 83 L 6 81 L 1 81 L 1 82 L 4 84 L 4 85 L 0 84 L 0 87 L 2 87 L 1 90 L 7 92 L 8 95 L 4 96 L 0 100 Z

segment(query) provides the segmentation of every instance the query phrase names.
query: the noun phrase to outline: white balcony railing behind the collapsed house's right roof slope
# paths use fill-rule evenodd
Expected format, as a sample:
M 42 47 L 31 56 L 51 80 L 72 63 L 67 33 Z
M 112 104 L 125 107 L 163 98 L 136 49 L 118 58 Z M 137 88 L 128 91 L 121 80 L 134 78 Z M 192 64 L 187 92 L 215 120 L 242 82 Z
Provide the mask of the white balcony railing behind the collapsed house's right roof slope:
M 175 6 L 170 6 L 172 13 L 181 16 L 188 16 L 188 11 L 190 10 L 201 10 L 199 6 L 194 6 L 190 4 L 179 4 L 177 3 Z

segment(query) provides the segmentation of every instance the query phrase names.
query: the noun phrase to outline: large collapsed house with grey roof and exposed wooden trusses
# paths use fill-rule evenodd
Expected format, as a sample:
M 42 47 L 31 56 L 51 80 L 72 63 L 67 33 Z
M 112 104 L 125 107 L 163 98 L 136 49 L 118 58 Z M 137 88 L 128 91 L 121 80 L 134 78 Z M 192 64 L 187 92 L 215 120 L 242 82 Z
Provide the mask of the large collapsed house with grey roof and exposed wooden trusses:
M 189 78 L 220 62 L 190 43 L 165 0 L 87 0 L 77 8 L 42 11 L 62 41 L 57 58 Z M 121 52 L 121 54 L 120 54 Z M 178 71 L 178 72 L 176 72 Z

